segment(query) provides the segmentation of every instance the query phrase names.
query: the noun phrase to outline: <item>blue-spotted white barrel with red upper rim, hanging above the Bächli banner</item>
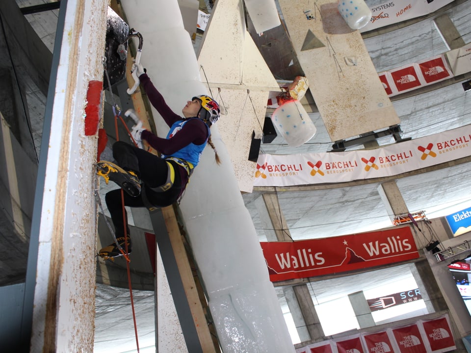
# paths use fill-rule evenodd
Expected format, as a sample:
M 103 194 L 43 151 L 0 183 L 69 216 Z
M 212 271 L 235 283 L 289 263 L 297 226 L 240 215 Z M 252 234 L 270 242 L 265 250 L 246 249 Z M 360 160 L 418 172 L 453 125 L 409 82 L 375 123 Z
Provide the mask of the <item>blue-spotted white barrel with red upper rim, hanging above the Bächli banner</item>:
M 275 109 L 271 121 L 290 147 L 311 140 L 316 132 L 311 117 L 299 101 L 288 101 Z

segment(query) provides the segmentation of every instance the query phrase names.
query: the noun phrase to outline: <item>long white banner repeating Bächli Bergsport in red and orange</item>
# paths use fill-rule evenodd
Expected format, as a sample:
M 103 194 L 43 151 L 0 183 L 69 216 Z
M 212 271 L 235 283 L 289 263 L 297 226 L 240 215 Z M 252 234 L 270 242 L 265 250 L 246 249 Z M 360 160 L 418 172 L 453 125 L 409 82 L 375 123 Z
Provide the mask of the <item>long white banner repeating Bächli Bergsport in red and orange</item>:
M 471 155 L 471 125 L 375 150 L 261 154 L 254 186 L 337 183 L 396 176 Z

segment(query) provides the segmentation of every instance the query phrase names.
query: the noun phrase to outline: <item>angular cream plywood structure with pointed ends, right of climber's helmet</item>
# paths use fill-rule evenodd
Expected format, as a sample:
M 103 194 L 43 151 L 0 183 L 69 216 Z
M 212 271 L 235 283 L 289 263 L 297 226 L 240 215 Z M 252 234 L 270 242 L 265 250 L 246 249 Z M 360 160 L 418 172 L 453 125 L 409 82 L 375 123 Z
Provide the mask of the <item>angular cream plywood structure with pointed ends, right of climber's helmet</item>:
M 198 55 L 200 75 L 219 102 L 217 126 L 241 191 L 252 192 L 252 133 L 262 131 L 270 91 L 280 87 L 245 28 L 239 0 L 219 1 Z M 227 162 L 227 161 L 225 161 Z

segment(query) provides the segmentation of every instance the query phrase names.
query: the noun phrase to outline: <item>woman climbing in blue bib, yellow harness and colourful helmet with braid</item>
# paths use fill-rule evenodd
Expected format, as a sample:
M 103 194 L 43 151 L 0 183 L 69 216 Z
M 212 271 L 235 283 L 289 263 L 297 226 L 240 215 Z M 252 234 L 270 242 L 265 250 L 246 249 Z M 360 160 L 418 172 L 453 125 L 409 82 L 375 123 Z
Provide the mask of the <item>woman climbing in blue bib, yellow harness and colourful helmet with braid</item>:
M 106 182 L 114 181 L 126 191 L 125 206 L 164 207 L 176 202 L 182 195 L 207 143 L 215 152 L 216 163 L 220 163 L 211 142 L 209 129 L 219 118 L 220 109 L 218 103 L 209 96 L 195 96 L 183 107 L 182 118 L 168 107 L 142 65 L 134 64 L 133 70 L 137 70 L 137 76 L 149 101 L 170 126 L 170 130 L 166 138 L 161 138 L 142 127 L 134 129 L 132 135 L 137 144 L 145 140 L 161 155 L 157 156 L 129 143 L 117 141 L 113 144 L 116 164 L 100 161 L 97 166 L 98 174 L 104 176 Z M 121 203 L 121 190 L 108 192 L 105 201 L 111 214 L 116 240 L 123 250 L 127 249 L 127 252 L 131 253 L 131 238 L 126 210 L 123 212 Z M 99 255 L 104 258 L 116 257 L 122 255 L 122 252 L 112 243 L 101 249 Z

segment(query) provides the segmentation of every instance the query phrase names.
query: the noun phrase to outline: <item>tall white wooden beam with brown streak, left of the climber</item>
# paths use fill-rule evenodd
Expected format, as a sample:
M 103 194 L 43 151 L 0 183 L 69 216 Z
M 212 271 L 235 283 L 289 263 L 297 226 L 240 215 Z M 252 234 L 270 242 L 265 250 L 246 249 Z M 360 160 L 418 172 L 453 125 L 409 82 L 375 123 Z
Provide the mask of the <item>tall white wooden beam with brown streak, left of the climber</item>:
M 53 97 L 34 291 L 31 352 L 92 352 L 97 136 L 84 135 L 90 80 L 103 79 L 105 0 L 68 0 Z M 45 129 L 46 131 L 47 129 Z

